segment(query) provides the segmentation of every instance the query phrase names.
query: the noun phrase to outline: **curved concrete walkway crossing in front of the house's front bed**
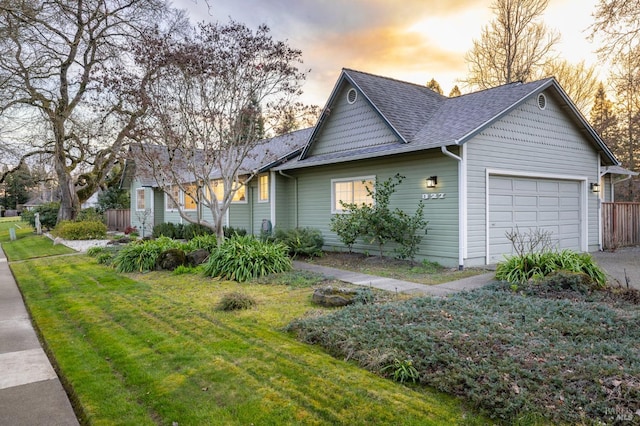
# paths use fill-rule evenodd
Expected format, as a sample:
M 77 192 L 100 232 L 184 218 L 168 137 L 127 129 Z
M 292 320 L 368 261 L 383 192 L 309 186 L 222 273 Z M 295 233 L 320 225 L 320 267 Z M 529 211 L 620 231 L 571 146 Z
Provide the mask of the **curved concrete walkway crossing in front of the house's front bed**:
M 464 290 L 473 290 L 483 287 L 494 281 L 495 272 L 474 275 L 438 285 L 417 284 L 409 281 L 396 280 L 393 278 L 378 277 L 375 275 L 361 274 L 358 272 L 343 271 L 341 269 L 328 266 L 314 265 L 306 262 L 294 261 L 293 267 L 305 271 L 312 271 L 323 274 L 326 277 L 334 278 L 351 284 L 374 287 L 398 293 L 425 294 L 431 296 L 446 296 Z

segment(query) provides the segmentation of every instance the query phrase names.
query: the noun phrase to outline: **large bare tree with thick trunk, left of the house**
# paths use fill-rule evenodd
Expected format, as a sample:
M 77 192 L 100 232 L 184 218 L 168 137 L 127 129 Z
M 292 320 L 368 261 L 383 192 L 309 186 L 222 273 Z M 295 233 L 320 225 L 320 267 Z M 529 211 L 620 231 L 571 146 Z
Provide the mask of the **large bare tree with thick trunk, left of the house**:
M 168 10 L 164 0 L 0 0 L 0 116 L 28 124 L 14 132 L 30 140 L 19 164 L 52 159 L 58 220 L 75 217 L 144 113 L 118 99 L 96 104 L 101 70 L 126 62 L 127 47 Z

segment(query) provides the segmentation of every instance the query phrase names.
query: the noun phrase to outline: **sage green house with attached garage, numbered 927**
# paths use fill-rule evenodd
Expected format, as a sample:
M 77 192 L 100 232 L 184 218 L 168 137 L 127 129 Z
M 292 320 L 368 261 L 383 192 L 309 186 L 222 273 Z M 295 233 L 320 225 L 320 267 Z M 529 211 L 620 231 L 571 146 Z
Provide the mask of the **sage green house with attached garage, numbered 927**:
M 306 138 L 299 155 L 262 166 L 270 182 L 265 204 L 256 179 L 244 210 L 232 206 L 227 223 L 255 234 L 263 219 L 284 229 L 313 227 L 327 249 L 343 250 L 330 230 L 331 217 L 342 214 L 340 200 L 363 201 L 363 181 L 400 173 L 405 180 L 392 207 L 412 213 L 425 203 L 419 257 L 460 268 L 511 254 L 505 233 L 516 227 L 550 231 L 559 249 L 598 250 L 600 201 L 611 198 L 611 174 L 621 173 L 553 78 L 447 98 L 344 69 L 316 126 L 298 135 Z M 130 182 L 132 210 L 152 207 L 154 223 L 178 220 L 162 209 L 156 190 Z M 145 203 L 136 204 L 134 194 L 143 191 Z

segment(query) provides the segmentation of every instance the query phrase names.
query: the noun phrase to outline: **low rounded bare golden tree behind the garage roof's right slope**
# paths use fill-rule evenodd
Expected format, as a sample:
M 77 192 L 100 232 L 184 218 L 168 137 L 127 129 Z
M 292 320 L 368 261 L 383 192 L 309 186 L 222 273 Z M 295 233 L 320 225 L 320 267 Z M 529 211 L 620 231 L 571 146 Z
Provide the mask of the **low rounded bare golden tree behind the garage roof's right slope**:
M 564 59 L 547 63 L 541 77 L 553 76 L 567 92 L 578 109 L 586 116 L 598 91 L 596 69 L 584 61 L 572 64 Z

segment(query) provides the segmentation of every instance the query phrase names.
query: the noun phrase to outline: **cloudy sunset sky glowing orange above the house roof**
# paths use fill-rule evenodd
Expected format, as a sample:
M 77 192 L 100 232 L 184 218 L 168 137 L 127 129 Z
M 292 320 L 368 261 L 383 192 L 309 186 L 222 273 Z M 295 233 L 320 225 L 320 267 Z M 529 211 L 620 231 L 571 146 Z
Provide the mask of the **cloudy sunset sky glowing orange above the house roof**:
M 267 24 L 275 39 L 302 50 L 311 69 L 302 101 L 324 106 L 344 68 L 426 84 L 444 94 L 467 73 L 465 53 L 493 17 L 491 0 L 174 0 L 194 22 L 229 18 Z M 597 0 L 551 0 L 545 24 L 561 34 L 560 57 L 596 63 L 587 41 Z M 463 89 L 463 92 L 465 90 Z

